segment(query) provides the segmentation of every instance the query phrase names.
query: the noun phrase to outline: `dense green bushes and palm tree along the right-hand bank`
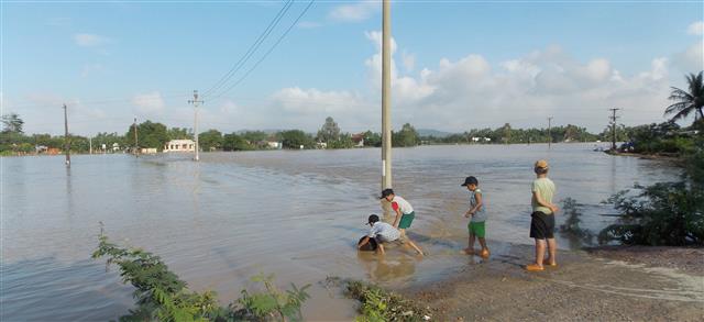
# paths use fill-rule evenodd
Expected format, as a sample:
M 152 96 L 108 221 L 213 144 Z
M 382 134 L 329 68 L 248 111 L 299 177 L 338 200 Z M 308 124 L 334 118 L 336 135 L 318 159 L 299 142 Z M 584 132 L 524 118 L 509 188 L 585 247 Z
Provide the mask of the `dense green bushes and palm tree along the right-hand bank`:
M 704 77 L 698 73 L 686 78 L 689 92 L 672 88 L 674 103 L 666 109 L 673 114 L 670 122 L 641 126 L 632 144 L 635 152 L 676 153 L 683 168 L 680 180 L 635 185 L 610 197 L 620 216 L 600 233 L 601 243 L 704 246 Z M 691 113 L 698 118 L 684 131 L 674 124 Z

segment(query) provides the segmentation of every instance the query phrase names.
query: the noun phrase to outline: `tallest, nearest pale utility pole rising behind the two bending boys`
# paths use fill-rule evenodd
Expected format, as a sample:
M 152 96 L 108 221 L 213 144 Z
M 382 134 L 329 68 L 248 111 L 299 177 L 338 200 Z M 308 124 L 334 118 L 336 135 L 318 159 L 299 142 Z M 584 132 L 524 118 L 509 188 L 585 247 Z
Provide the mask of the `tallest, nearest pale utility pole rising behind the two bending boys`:
M 392 8 L 383 0 L 382 31 L 382 189 L 392 188 Z

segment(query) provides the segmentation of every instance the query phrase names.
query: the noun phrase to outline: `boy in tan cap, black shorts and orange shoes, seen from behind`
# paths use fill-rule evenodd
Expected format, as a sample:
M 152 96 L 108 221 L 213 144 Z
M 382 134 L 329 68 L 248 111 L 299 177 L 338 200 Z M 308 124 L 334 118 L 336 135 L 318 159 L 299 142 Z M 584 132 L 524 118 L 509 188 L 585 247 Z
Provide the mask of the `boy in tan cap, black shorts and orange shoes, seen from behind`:
M 537 179 L 532 181 L 532 218 L 530 221 L 530 237 L 536 240 L 536 263 L 526 266 L 529 271 L 544 270 L 543 265 L 558 266 L 556 255 L 558 244 L 554 241 L 554 213 L 558 207 L 552 203 L 554 196 L 554 184 L 548 179 L 548 162 L 544 159 L 536 162 L 534 167 Z M 548 246 L 548 259 L 544 258 L 546 241 Z

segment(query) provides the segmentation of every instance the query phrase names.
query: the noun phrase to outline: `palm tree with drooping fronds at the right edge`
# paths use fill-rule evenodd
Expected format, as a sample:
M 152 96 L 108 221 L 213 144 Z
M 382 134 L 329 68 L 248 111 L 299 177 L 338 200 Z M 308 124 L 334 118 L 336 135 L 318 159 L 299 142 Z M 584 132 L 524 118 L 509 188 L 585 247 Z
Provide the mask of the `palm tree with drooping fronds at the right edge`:
M 664 110 L 664 114 L 674 114 L 671 121 L 678 121 L 690 115 L 694 112 L 698 112 L 698 118 L 704 119 L 702 113 L 702 107 L 704 107 L 704 71 L 700 71 L 698 75 L 690 74 L 686 76 L 686 82 L 690 86 L 690 92 L 681 90 L 676 87 L 671 87 L 669 99 L 675 101 L 674 104 L 669 106 Z M 696 119 L 696 118 L 695 118 Z

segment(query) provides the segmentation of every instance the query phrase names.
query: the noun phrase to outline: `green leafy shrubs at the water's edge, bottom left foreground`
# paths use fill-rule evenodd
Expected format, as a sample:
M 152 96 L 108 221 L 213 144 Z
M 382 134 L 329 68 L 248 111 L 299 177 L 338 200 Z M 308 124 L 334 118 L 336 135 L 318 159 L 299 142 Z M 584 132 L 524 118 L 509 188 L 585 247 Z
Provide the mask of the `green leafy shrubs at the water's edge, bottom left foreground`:
M 309 298 L 309 285 L 298 288 L 292 284 L 282 291 L 273 276 L 260 275 L 252 280 L 264 286 L 262 292 L 242 290 L 237 301 L 221 307 L 216 292 L 189 290 L 158 256 L 120 247 L 102 233 L 92 254 L 92 258 L 100 257 L 108 258 L 108 266 L 116 264 L 122 281 L 135 288 L 136 308 L 120 321 L 302 321 L 300 308 Z

